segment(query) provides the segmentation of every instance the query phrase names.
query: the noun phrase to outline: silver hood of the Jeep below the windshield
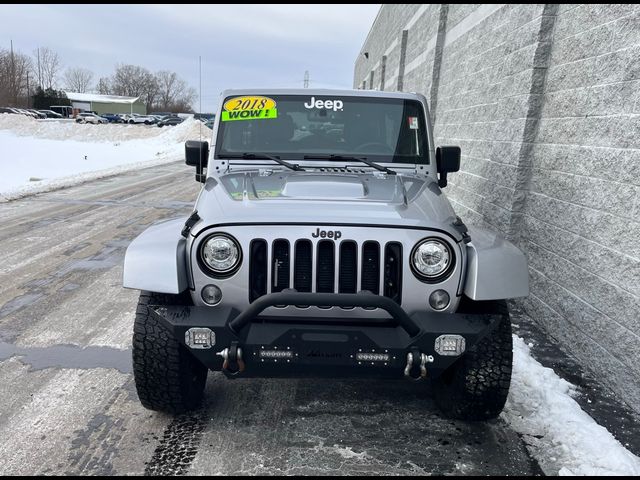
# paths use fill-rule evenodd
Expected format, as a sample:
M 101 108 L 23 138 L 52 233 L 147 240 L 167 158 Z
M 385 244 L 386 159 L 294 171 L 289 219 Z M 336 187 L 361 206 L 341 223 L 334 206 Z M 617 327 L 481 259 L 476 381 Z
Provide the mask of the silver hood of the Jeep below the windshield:
M 456 216 L 437 183 L 418 175 L 251 170 L 209 177 L 192 233 L 226 223 L 363 224 L 438 228 Z

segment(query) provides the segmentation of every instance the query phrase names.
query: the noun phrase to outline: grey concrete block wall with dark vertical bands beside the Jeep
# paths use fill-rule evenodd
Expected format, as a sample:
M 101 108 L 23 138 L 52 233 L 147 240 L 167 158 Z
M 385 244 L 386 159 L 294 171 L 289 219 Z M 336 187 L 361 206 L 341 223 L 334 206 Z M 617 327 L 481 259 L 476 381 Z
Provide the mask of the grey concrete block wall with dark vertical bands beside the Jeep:
M 385 5 L 364 51 L 354 87 L 404 63 L 462 147 L 456 211 L 525 251 L 527 312 L 640 411 L 640 6 Z

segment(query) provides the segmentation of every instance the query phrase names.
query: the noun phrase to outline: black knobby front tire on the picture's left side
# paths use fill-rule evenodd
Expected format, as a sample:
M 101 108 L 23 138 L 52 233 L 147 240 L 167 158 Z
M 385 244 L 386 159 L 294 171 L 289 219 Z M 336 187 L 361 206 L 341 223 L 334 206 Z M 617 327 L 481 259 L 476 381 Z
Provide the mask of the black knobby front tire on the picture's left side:
M 188 297 L 188 294 L 186 295 Z M 149 305 L 185 305 L 191 298 L 141 292 L 133 327 L 133 376 L 145 408 L 182 413 L 202 402 L 207 368 L 152 315 Z

